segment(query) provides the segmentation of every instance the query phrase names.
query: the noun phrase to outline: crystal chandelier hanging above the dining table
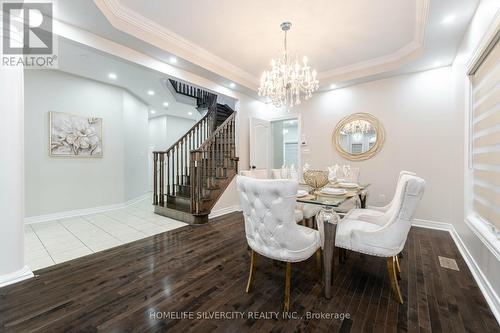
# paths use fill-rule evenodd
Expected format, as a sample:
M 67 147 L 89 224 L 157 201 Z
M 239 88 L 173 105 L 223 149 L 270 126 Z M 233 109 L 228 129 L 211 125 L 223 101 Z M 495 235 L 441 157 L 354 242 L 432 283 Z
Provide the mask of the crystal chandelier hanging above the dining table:
M 292 60 L 286 50 L 286 34 L 290 30 L 290 22 L 281 23 L 285 32 L 283 57 L 271 60 L 271 70 L 264 71 L 260 80 L 259 96 L 269 97 L 274 106 L 293 107 L 300 104 L 301 94 L 308 100 L 319 88 L 316 71 L 307 65 L 307 57 L 302 65 L 297 57 Z

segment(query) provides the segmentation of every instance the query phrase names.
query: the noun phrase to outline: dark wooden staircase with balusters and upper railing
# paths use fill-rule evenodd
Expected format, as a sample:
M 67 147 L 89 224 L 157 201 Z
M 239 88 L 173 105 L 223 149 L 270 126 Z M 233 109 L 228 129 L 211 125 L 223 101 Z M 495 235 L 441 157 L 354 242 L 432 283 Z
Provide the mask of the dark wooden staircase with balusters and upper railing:
M 170 80 L 175 92 L 196 99 L 204 115 L 166 151 L 153 152 L 155 213 L 190 224 L 208 214 L 238 173 L 236 112 L 217 103 L 217 95 Z

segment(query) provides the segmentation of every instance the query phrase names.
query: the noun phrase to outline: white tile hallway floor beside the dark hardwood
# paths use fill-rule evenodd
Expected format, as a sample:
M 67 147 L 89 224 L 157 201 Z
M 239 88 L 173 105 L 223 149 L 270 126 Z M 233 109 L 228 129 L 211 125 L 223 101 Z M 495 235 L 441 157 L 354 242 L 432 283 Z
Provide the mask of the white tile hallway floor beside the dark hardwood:
M 37 270 L 176 229 L 186 224 L 153 213 L 149 200 L 120 210 L 26 225 L 25 259 Z

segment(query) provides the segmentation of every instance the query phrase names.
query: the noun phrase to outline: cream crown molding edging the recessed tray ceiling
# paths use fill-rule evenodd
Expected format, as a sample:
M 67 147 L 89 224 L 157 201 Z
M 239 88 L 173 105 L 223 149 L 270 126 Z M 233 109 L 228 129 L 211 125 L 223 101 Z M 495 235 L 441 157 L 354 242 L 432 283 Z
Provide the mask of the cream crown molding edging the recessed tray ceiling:
M 393 53 L 334 68 L 318 73 L 321 84 L 359 79 L 395 70 L 414 60 L 424 51 L 424 38 L 430 0 L 414 0 L 416 6 L 413 39 Z M 202 68 L 228 78 L 252 90 L 257 90 L 259 79 L 229 61 L 205 50 L 166 29 L 164 26 L 139 15 L 120 4 L 119 0 L 94 0 L 113 27 L 148 42 L 166 52 L 175 54 Z

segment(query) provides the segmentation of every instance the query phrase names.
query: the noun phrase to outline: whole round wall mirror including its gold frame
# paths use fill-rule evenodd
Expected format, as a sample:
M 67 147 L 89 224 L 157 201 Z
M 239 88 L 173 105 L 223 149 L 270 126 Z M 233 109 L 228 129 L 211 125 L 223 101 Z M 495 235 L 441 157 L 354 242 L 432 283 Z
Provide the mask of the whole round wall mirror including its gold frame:
M 351 161 L 374 156 L 384 143 L 384 128 L 369 113 L 355 113 L 343 118 L 333 132 L 333 144 L 342 157 Z

